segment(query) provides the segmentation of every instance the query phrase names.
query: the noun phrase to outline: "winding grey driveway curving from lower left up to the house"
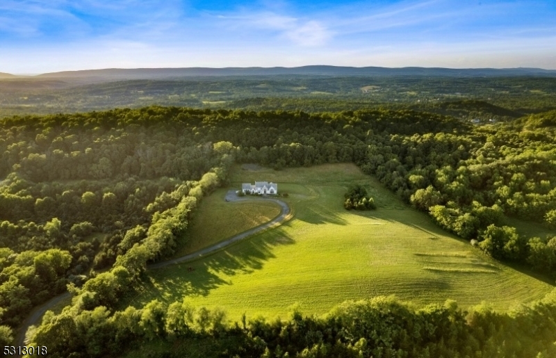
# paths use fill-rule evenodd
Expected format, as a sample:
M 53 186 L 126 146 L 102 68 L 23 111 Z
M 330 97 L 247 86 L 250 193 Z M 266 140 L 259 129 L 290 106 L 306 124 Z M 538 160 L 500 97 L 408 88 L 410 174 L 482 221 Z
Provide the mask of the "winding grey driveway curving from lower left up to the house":
M 254 227 L 253 229 L 243 231 L 242 233 L 234 235 L 225 241 L 221 241 L 220 243 L 216 243 L 215 245 L 205 247 L 204 249 L 193 252 L 192 254 L 187 254 L 182 257 L 177 257 L 176 259 L 172 259 L 168 261 L 153 263 L 147 266 L 147 270 L 156 270 L 159 268 L 165 268 L 166 266 L 174 265 L 176 263 L 201 259 L 202 257 L 205 257 L 208 254 L 213 254 L 214 252 L 222 250 L 224 247 L 227 247 L 229 245 L 232 245 L 233 243 L 241 241 L 244 238 L 247 238 L 247 236 L 251 236 L 253 234 L 256 234 L 270 227 L 275 227 L 280 225 L 282 222 L 288 219 L 288 215 L 290 214 L 290 207 L 288 206 L 288 204 L 282 202 L 281 200 L 270 198 L 270 197 L 256 197 L 256 198 L 250 196 L 238 197 L 238 195 L 236 195 L 236 192 L 234 190 L 229 190 L 228 193 L 226 194 L 226 200 L 228 202 L 244 202 L 244 201 L 252 201 L 252 200 L 265 200 L 270 202 L 276 202 L 277 204 L 279 204 L 279 206 L 281 206 L 281 212 L 280 215 L 278 215 L 276 218 L 270 220 L 269 222 L 265 222 L 265 224 L 263 225 L 259 225 L 258 227 Z M 44 315 L 44 313 L 46 313 L 46 311 L 56 306 L 56 304 L 58 304 L 59 302 L 66 300 L 67 298 L 70 297 L 71 297 L 70 293 L 66 292 L 54 298 L 51 298 L 51 300 L 45 302 L 39 307 L 35 307 L 35 309 L 31 311 L 31 314 L 24 320 L 22 327 L 18 330 L 15 339 L 16 345 L 20 345 L 20 346 L 25 345 L 24 341 L 25 341 L 25 334 L 27 332 L 27 329 L 31 325 L 36 325 L 40 321 L 40 318 Z

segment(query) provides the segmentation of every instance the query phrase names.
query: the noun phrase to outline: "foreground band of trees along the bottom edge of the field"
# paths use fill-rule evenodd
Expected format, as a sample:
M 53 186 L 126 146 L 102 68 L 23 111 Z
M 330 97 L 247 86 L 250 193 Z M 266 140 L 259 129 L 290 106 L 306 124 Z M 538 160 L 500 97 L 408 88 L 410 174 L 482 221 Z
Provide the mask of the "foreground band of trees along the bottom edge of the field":
M 192 341 L 204 345 L 204 357 L 548 358 L 556 355 L 555 320 L 555 293 L 506 313 L 485 305 L 464 311 L 453 300 L 416 309 L 379 297 L 344 302 L 322 317 L 294 309 L 286 320 L 244 316 L 233 324 L 221 309 L 153 300 L 115 312 L 102 306 L 49 312 L 33 345 L 48 345 L 51 357 L 76 358 L 122 355 L 153 340 L 168 347 L 153 358 L 183 357 Z

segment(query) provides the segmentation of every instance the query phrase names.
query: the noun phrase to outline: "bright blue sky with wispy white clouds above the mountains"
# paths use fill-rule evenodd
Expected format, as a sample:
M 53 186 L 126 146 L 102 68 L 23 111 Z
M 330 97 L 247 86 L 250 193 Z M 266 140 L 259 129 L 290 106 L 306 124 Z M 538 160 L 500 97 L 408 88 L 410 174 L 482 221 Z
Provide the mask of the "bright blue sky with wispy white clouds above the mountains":
M 556 69 L 556 0 L 0 0 L 0 72 Z

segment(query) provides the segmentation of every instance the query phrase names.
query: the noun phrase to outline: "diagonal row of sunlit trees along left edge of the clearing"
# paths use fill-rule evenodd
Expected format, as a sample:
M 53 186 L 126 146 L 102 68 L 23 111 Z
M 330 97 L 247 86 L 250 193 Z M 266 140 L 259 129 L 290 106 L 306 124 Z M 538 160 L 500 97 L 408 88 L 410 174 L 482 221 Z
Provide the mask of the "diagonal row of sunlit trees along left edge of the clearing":
M 118 298 L 133 290 L 133 283 L 139 279 L 147 262 L 155 261 L 172 253 L 177 239 L 188 227 L 190 215 L 195 210 L 198 200 L 220 185 L 218 175 L 225 174 L 223 170 L 225 168 L 218 168 L 214 172 L 206 173 L 193 188 L 187 193 L 183 193 L 184 196 L 176 206 L 162 212 L 157 211 L 147 230 L 136 227 L 127 231 L 124 240 L 119 245 L 120 248 L 126 250 L 116 257 L 111 270 L 88 279 L 81 288 L 70 284 L 68 288 L 74 295 L 72 305 L 66 307 L 63 314 L 47 315 L 42 324 L 33 332 L 33 340 L 49 341 L 49 345 L 53 347 L 58 347 L 55 342 L 65 346 L 58 350 L 57 354 L 60 357 L 70 357 L 70 355 L 79 357 L 79 354 L 95 356 L 98 353 L 106 353 L 106 341 L 102 343 L 98 339 L 104 337 L 105 334 L 113 333 L 106 332 L 109 310 L 116 306 Z M 156 316 L 156 313 L 154 315 Z M 88 323 L 95 322 L 105 327 L 78 328 L 71 324 L 70 321 L 73 319 Z M 127 324 L 124 321 L 120 323 Z M 85 336 L 76 334 L 78 331 L 75 329 L 85 329 Z M 67 335 L 72 336 L 69 341 L 65 341 Z M 89 344 L 85 341 L 92 336 L 96 337 L 94 339 L 96 343 L 92 343 L 92 341 L 91 343 L 98 345 L 93 348 L 84 347 L 83 344 Z M 85 341 L 81 339 L 85 339 Z M 76 351 L 74 352 L 74 350 Z

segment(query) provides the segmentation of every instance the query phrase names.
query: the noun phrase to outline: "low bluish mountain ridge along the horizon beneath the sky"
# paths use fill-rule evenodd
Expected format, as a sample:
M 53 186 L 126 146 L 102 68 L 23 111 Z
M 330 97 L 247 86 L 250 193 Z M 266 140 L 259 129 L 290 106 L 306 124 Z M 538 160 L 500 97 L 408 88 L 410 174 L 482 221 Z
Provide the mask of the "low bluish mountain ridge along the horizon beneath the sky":
M 338 67 L 338 66 L 302 66 L 302 67 L 187 67 L 187 68 L 136 68 L 105 70 L 82 70 L 51 72 L 33 76 L 35 78 L 103 78 L 103 79 L 172 79 L 198 76 L 272 76 L 272 75 L 311 75 L 311 76 L 556 76 L 556 70 L 540 68 L 469 68 L 451 69 L 441 67 Z M 0 77 L 15 77 L 0 73 Z

